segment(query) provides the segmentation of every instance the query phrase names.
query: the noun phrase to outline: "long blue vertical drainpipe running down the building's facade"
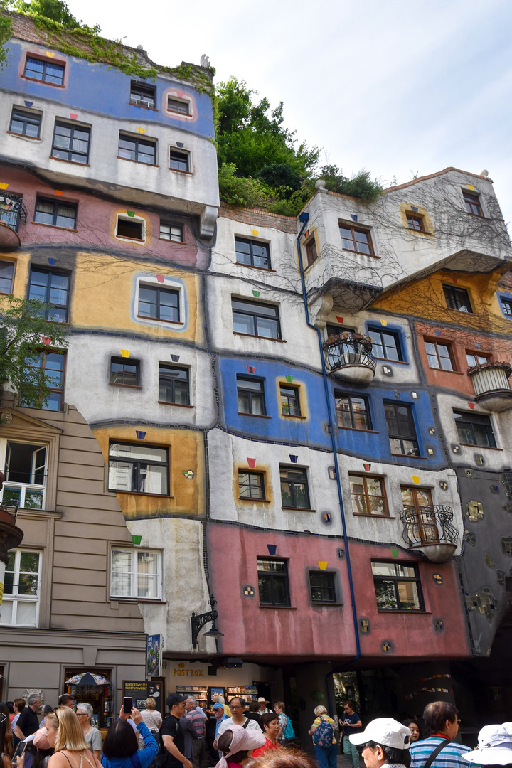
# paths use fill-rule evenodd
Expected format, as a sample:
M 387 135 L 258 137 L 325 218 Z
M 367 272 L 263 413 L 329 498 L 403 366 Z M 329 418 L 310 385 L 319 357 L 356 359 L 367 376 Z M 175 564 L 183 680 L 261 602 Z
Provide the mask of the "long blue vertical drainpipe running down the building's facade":
M 350 600 L 352 601 L 352 620 L 354 622 L 356 654 L 355 654 L 355 657 L 346 661 L 345 664 L 342 664 L 342 667 L 339 667 L 339 669 L 342 669 L 343 667 L 346 667 L 347 664 L 352 664 L 353 661 L 357 661 L 358 658 L 361 657 L 361 643 L 359 641 L 358 617 L 357 617 L 357 611 L 355 607 L 354 581 L 352 579 L 352 565 L 350 563 L 350 551 L 348 549 L 347 526 L 345 523 L 345 509 L 343 507 L 342 485 L 339 480 L 338 452 L 337 452 L 337 445 L 336 445 L 336 439 L 335 439 L 335 427 L 334 427 L 334 422 L 332 420 L 331 392 L 329 389 L 329 380 L 327 379 L 327 371 L 325 370 L 325 360 L 323 356 L 322 333 L 320 332 L 320 329 L 314 326 L 309 320 L 308 296 L 306 294 L 306 280 L 304 277 L 304 266 L 302 264 L 302 253 L 300 249 L 300 238 L 302 237 L 302 232 L 305 230 L 306 224 L 309 221 L 309 214 L 306 213 L 306 211 L 303 211 L 302 214 L 300 214 L 299 216 L 299 221 L 300 223 L 302 223 L 302 229 L 297 235 L 297 253 L 299 256 L 300 280 L 302 283 L 302 299 L 304 300 L 304 309 L 306 310 L 306 323 L 308 324 L 309 328 L 312 328 L 313 330 L 316 331 L 316 335 L 319 340 L 320 360 L 322 361 L 322 376 L 323 376 L 324 390 L 325 390 L 325 402 L 327 403 L 327 412 L 329 415 L 329 429 L 331 432 L 332 455 L 334 456 L 334 466 L 335 466 L 335 473 L 336 473 L 336 488 L 338 488 L 339 511 L 342 518 L 343 542 L 345 544 L 345 561 L 347 564 L 348 585 L 350 587 Z M 332 672 L 329 672 L 327 677 L 330 677 L 332 674 L 335 673 L 335 671 L 337 670 L 332 670 Z M 333 712 L 335 710 L 333 709 L 331 689 L 329 686 L 329 682 L 327 684 L 327 695 L 329 698 L 329 710 Z

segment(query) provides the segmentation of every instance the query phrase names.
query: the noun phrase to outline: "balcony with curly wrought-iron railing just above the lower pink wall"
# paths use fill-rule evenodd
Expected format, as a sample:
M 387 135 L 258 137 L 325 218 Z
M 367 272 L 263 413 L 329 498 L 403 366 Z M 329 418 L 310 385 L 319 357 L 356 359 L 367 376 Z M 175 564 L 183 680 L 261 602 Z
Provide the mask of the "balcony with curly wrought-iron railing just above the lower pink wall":
M 403 509 L 400 519 L 405 523 L 404 541 L 409 549 L 420 551 L 433 563 L 444 563 L 457 549 L 459 535 L 451 525 L 451 507 L 434 506 Z

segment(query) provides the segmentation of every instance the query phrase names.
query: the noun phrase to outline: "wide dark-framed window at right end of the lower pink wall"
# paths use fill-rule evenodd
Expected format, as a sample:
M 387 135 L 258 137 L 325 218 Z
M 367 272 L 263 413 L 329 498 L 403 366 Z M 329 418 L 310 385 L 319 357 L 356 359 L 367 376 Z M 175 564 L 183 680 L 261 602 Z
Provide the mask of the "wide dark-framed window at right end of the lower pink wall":
M 372 562 L 379 611 L 423 611 L 416 565 Z

